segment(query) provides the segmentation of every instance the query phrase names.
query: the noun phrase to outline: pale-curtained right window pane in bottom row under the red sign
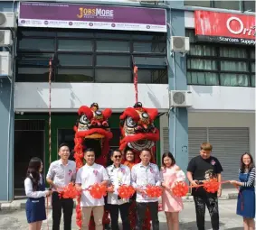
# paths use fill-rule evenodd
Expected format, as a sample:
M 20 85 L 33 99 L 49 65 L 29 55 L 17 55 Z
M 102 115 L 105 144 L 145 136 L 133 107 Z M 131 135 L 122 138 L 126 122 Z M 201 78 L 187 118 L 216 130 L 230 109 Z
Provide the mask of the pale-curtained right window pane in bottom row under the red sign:
M 246 74 L 221 74 L 221 85 L 227 87 L 249 87 L 249 76 Z

